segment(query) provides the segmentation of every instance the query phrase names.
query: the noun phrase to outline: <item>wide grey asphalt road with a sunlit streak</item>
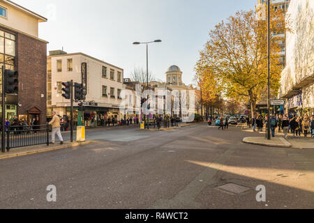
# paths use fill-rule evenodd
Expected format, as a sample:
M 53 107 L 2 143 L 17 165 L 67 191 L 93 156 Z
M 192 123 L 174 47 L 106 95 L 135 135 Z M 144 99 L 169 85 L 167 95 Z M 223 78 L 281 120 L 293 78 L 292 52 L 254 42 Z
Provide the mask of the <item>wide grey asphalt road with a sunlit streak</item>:
M 251 135 L 206 123 L 89 130 L 93 144 L 0 160 L 0 208 L 314 208 L 313 150 L 241 142 Z

